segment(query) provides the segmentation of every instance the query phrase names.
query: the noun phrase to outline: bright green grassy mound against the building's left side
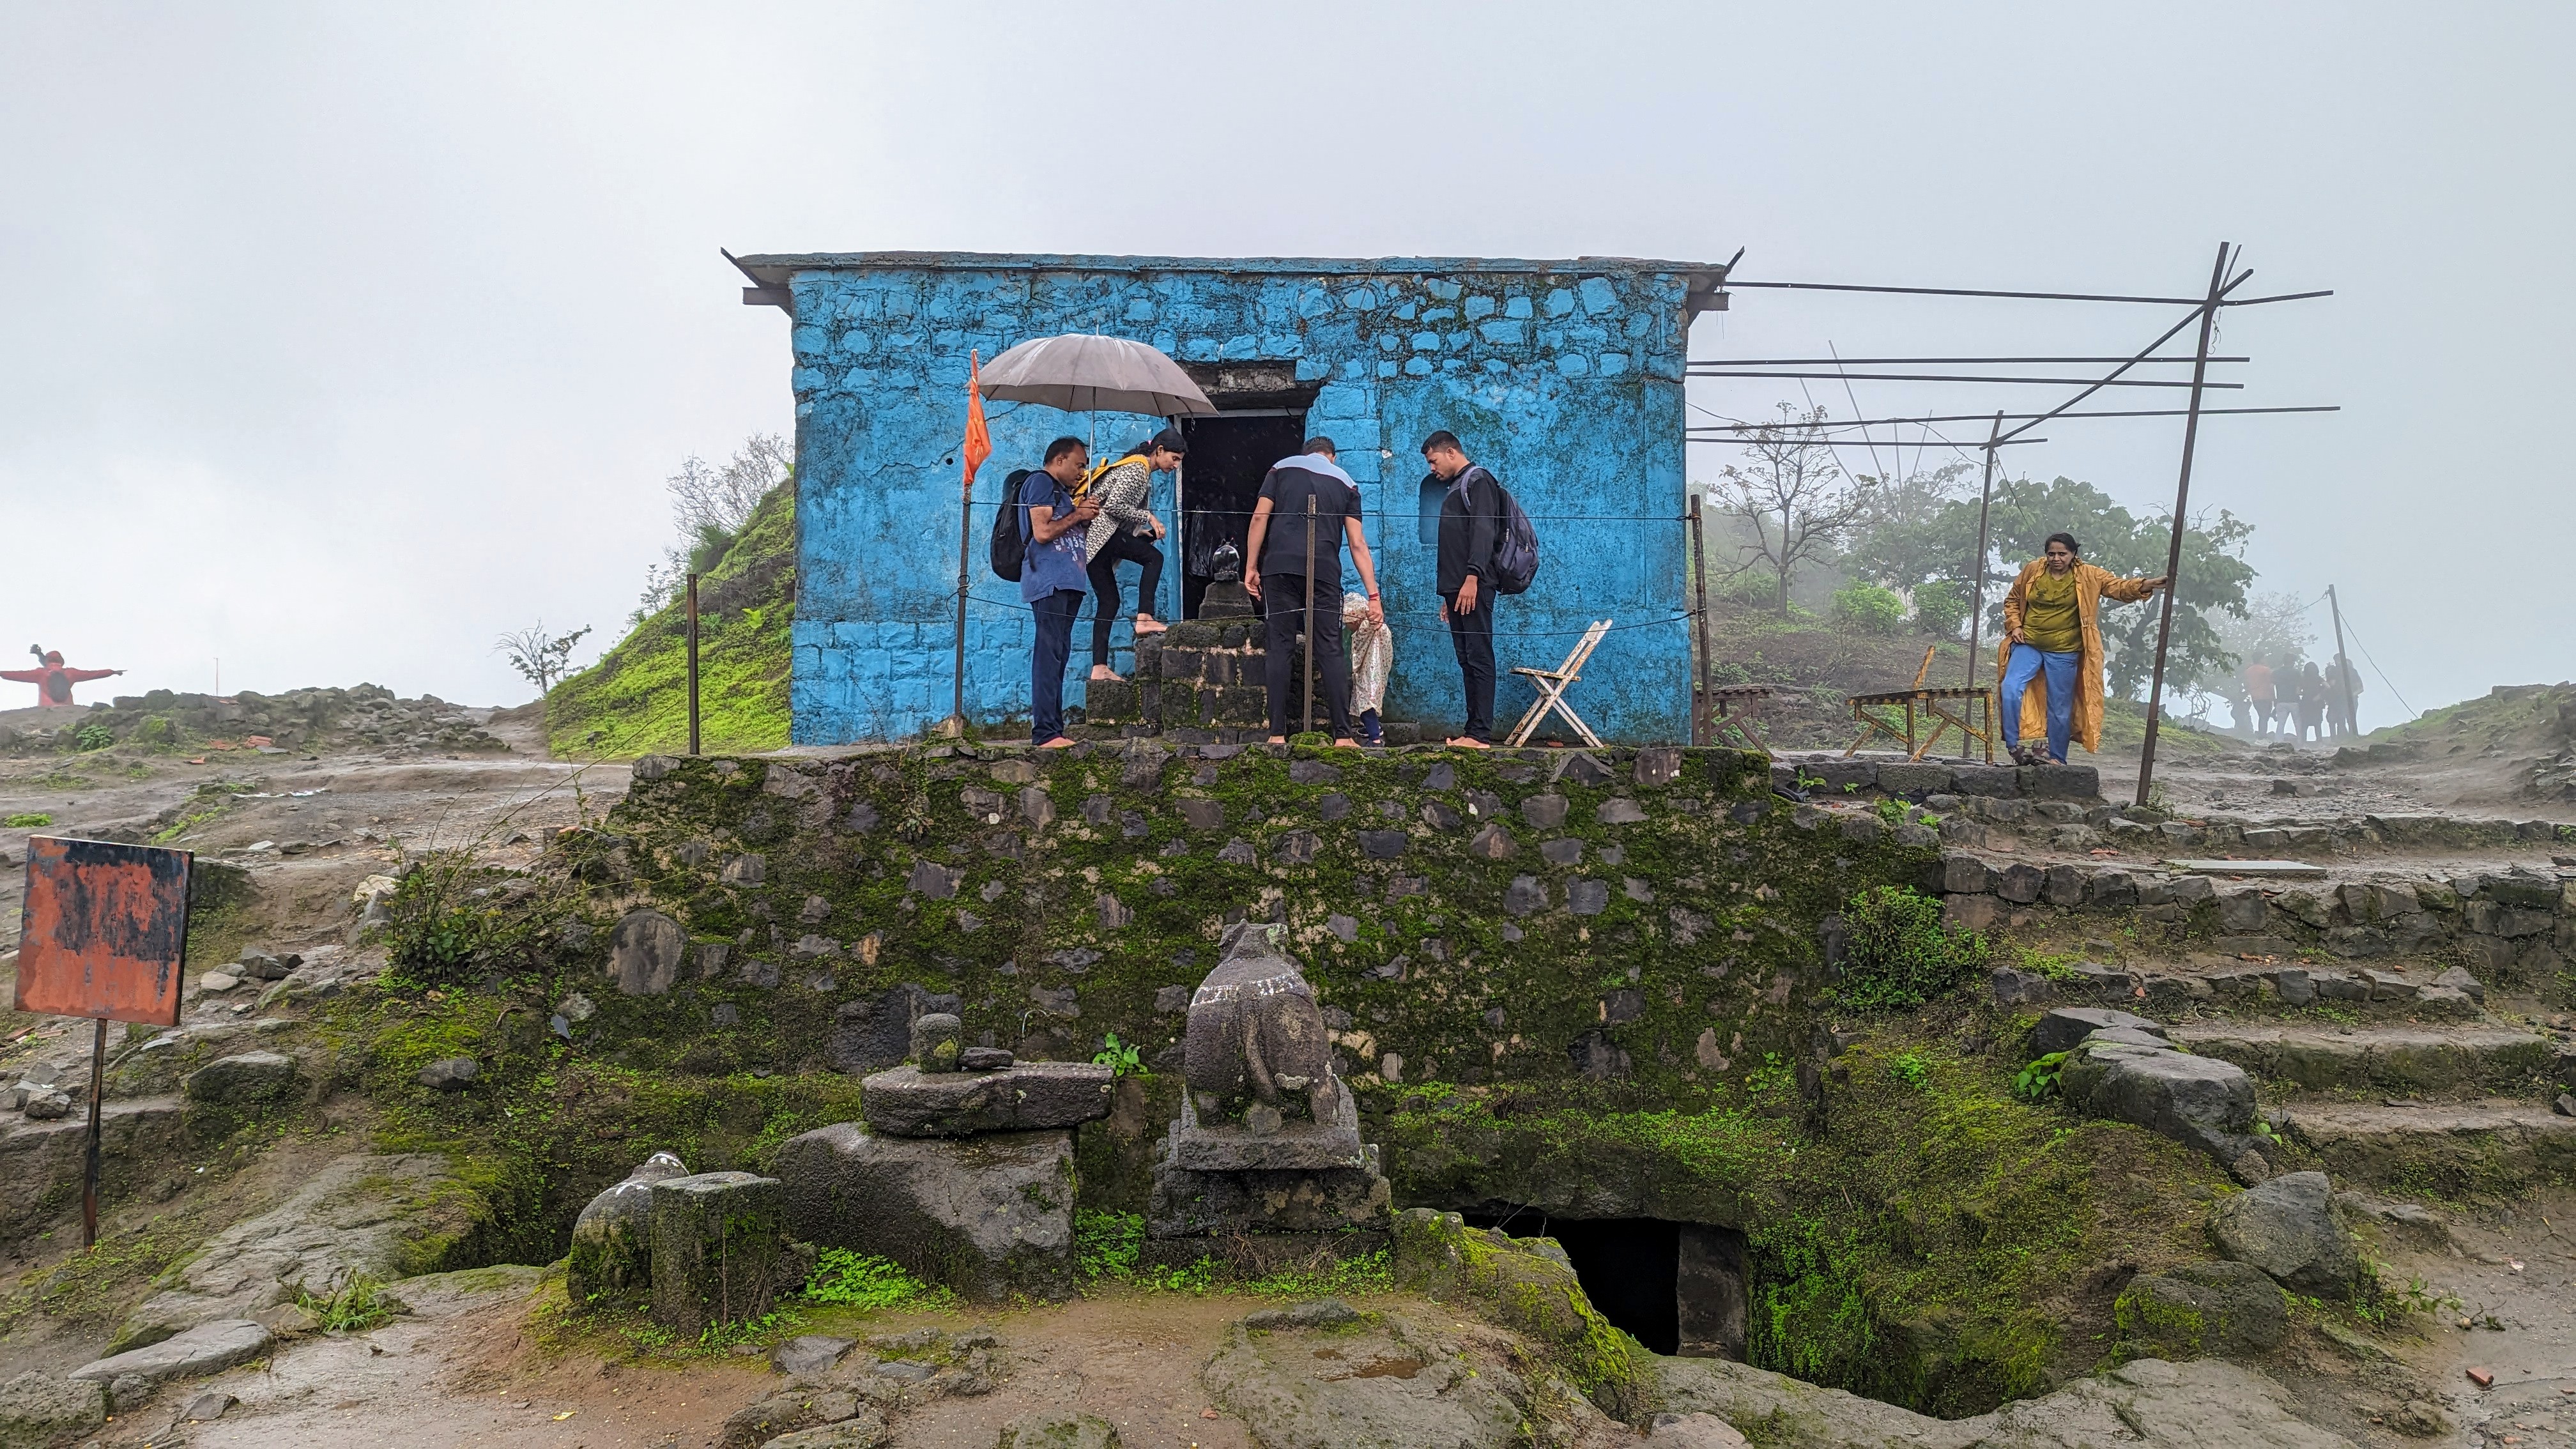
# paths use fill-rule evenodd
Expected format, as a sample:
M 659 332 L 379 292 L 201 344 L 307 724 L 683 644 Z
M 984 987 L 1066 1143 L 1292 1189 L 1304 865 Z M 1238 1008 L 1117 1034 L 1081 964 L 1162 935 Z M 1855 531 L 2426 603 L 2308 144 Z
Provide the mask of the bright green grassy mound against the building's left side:
M 788 743 L 788 624 L 796 616 L 796 485 L 770 490 L 698 580 L 698 740 L 706 750 Z M 546 696 L 556 755 L 688 748 L 688 603 L 675 601 Z

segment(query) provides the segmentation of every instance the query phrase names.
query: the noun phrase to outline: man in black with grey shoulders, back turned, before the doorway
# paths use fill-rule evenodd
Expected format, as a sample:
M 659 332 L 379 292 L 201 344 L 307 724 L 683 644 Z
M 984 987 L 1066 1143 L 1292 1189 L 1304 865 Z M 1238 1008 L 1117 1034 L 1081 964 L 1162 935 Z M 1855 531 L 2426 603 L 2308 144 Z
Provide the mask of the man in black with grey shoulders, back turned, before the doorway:
M 1309 521 L 1314 503 L 1309 570 Z M 1273 523 L 1278 523 L 1273 529 Z M 1270 637 L 1270 743 L 1288 743 L 1288 676 L 1296 668 L 1296 637 L 1306 634 L 1316 670 L 1324 676 L 1324 714 L 1332 743 L 1358 750 L 1350 737 L 1350 660 L 1342 657 L 1342 539 L 1350 562 L 1360 567 L 1368 590 L 1368 616 L 1386 621 L 1378 601 L 1378 567 L 1360 531 L 1360 487 L 1334 462 L 1332 438 L 1306 438 L 1306 451 L 1280 462 L 1262 480 L 1252 503 L 1252 531 L 1244 541 L 1244 590 L 1262 601 Z M 1306 603 L 1314 601 L 1309 611 Z

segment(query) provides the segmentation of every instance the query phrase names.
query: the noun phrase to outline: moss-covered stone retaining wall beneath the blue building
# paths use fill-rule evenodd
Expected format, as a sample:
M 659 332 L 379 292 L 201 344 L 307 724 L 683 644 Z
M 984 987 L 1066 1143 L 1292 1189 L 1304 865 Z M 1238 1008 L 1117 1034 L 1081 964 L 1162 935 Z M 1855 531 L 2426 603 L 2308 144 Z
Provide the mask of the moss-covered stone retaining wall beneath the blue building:
M 1736 750 L 1128 740 L 647 758 L 567 848 L 605 908 L 688 936 L 667 987 L 600 964 L 595 1031 L 639 1067 L 878 1070 L 920 1011 L 1025 1057 L 1115 1031 L 1177 1065 L 1190 990 L 1249 915 L 1291 926 L 1363 1085 L 1682 1106 L 1803 1052 L 1821 923 L 1937 859 L 1922 828 L 1826 825 Z M 621 936 L 649 933 L 598 931 Z

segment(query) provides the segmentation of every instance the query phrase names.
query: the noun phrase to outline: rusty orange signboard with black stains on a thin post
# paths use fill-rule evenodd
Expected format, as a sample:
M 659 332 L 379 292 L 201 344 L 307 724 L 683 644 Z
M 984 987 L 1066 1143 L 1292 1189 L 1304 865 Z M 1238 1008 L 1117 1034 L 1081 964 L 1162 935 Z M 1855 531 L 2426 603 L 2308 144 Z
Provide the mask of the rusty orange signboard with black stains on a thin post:
M 26 843 L 18 1011 L 178 1026 L 191 851 Z

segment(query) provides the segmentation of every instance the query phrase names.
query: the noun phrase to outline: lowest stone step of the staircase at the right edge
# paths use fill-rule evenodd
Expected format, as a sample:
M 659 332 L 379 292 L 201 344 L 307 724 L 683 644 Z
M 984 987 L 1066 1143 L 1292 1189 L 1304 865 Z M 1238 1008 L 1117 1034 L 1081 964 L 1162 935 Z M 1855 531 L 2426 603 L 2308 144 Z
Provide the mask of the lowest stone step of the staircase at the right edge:
M 2339 1183 L 2473 1196 L 2576 1181 L 2576 1116 L 2530 1098 L 2300 1101 L 2287 1134 Z

